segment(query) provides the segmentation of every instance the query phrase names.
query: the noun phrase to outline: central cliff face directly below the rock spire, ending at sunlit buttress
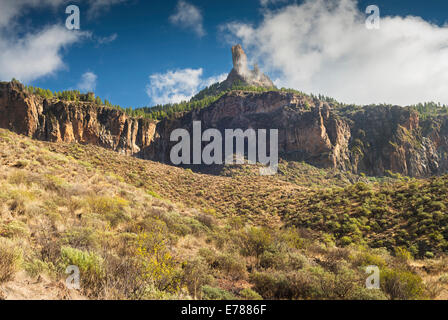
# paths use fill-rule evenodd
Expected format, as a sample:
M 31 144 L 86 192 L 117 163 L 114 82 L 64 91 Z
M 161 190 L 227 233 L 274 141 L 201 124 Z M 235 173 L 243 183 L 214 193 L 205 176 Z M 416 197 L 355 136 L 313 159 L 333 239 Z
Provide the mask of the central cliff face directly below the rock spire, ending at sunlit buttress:
M 309 107 L 308 98 L 278 91 L 233 91 L 208 108 L 164 120 L 157 126 L 155 143 L 142 150 L 143 157 L 169 162 L 169 151 L 176 144 L 169 142 L 170 133 L 177 128 L 191 131 L 193 121 L 201 121 L 202 130 L 217 128 L 222 133 L 225 129 L 278 129 L 283 157 L 350 169 L 348 124 L 325 103 Z

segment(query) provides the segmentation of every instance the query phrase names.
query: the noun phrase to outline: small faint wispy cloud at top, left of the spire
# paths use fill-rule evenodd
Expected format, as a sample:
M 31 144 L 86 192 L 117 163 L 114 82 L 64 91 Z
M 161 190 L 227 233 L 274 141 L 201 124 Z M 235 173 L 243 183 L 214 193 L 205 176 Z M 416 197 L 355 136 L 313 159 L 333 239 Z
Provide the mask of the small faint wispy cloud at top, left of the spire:
M 171 23 L 193 30 L 199 37 L 205 35 L 201 11 L 194 5 L 179 0 L 176 12 L 170 17 Z

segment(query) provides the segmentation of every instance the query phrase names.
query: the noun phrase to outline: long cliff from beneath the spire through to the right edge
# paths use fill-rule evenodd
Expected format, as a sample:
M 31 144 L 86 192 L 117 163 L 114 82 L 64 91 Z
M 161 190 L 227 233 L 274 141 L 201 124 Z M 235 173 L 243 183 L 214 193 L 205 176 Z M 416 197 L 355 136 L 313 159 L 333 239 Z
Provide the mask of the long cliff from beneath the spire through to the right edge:
M 424 177 L 448 170 L 448 117 L 422 121 L 403 107 L 347 111 L 286 92 L 233 91 L 210 107 L 157 125 L 141 156 L 169 163 L 174 129 L 279 129 L 281 157 L 324 168 L 382 176 L 387 170 Z

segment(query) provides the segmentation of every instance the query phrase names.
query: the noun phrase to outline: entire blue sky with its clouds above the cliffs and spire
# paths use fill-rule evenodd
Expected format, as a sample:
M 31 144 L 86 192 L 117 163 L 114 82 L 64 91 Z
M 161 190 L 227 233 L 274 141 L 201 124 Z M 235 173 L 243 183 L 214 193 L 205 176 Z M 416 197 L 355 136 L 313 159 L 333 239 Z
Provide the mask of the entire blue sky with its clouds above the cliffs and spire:
M 339 10 L 305 7 L 303 1 L 287 0 L 265 0 L 268 4 L 260 0 L 100 0 L 96 5 L 89 0 L 22 1 L 0 0 L 0 49 L 13 47 L 9 55 L 0 54 L 2 80 L 12 75 L 55 91 L 90 87 L 114 104 L 141 107 L 188 97 L 213 79 L 222 79 L 232 68 L 231 44 L 241 42 L 249 57 L 256 59 L 279 86 L 323 93 L 344 102 L 448 103 L 440 84 L 445 80 L 445 68 L 448 74 L 448 66 L 443 63 L 448 57 L 446 1 L 362 0 L 354 4 L 356 14 L 346 8 L 354 0 L 337 0 L 344 5 Z M 328 1 L 316 3 L 324 7 Z M 80 8 L 80 31 L 62 31 L 68 4 Z M 373 36 L 373 32 L 366 33 L 359 20 L 370 4 L 378 5 L 382 19 L 410 15 L 424 21 L 393 18 Z M 2 15 L 2 9 L 12 13 Z M 328 22 L 313 18 L 322 13 L 328 15 Z M 336 16 L 340 19 L 332 18 Z M 280 21 L 282 17 L 288 21 Z M 354 21 L 347 26 L 347 19 Z M 316 26 L 301 34 L 314 23 Z M 353 26 L 363 30 L 358 32 Z M 14 31 L 8 32 L 12 28 Z M 51 28 L 51 33 L 46 32 Z M 293 28 L 297 28 L 297 38 L 290 32 Z M 327 38 L 332 30 L 335 34 Z M 42 41 L 52 39 L 49 52 L 33 43 L 41 33 L 45 35 Z M 287 39 L 282 39 L 286 38 L 283 34 Z M 414 36 L 416 41 L 403 40 Z M 436 39 L 425 40 L 433 36 Z M 335 37 L 341 37 L 340 47 L 333 43 Z M 366 37 L 378 43 L 371 48 L 378 50 L 377 54 L 360 51 L 366 46 L 362 40 Z M 313 43 L 313 39 L 319 39 L 319 43 Z M 372 39 L 365 41 L 371 44 Z M 402 40 L 399 47 L 396 43 Z M 322 47 L 309 49 L 315 46 Z M 389 50 L 390 57 L 385 54 Z M 416 56 L 407 57 L 407 52 L 416 52 Z M 35 56 L 37 61 L 30 63 Z M 29 66 L 23 71 L 25 59 Z M 41 61 L 45 61 L 44 67 Z M 397 64 L 401 69 L 391 70 L 390 65 Z M 7 71 L 2 72 L 2 66 Z M 382 73 L 376 73 L 376 69 Z M 357 79 L 361 74 L 369 78 L 363 85 Z M 390 83 L 384 84 L 385 79 Z M 341 82 L 346 85 L 342 87 Z M 154 89 L 156 85 L 158 90 Z

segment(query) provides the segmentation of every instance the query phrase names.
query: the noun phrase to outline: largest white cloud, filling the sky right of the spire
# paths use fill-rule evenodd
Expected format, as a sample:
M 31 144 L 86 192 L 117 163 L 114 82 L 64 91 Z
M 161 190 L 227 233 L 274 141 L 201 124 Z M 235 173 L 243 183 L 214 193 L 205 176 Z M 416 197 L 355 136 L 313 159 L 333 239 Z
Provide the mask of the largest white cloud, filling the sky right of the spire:
M 355 0 L 307 0 L 224 29 L 280 86 L 349 103 L 448 103 L 448 26 L 382 17 L 368 30 L 365 20 Z

